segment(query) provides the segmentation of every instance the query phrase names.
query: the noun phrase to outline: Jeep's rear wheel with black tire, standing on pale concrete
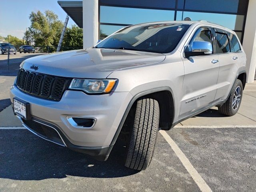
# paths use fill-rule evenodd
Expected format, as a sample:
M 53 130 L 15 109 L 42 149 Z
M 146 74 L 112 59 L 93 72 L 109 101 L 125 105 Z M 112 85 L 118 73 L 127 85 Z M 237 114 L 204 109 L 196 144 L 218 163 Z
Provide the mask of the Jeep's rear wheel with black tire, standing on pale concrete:
M 237 93 L 236 90 L 239 89 L 238 87 L 240 87 L 240 97 L 239 97 L 239 102 L 235 102 L 235 94 Z M 241 101 L 242 101 L 242 96 L 243 96 L 243 85 L 242 82 L 237 79 L 231 89 L 231 93 L 230 96 L 228 97 L 228 100 L 226 100 L 226 102 L 218 107 L 218 111 L 223 114 L 223 115 L 227 115 L 227 116 L 233 116 L 234 114 L 237 113 Z M 237 105 L 233 108 L 233 102 L 235 102 Z

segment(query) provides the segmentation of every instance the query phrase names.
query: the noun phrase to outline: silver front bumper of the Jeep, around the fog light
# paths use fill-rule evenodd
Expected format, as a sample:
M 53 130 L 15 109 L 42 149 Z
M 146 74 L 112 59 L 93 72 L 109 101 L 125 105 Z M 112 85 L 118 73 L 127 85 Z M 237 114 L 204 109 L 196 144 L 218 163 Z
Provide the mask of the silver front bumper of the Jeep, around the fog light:
M 28 95 L 12 86 L 12 102 L 14 97 L 28 102 L 32 120 L 54 127 L 68 148 L 96 156 L 112 145 L 116 130 L 132 99 L 129 92 L 87 95 L 81 91 L 66 90 L 62 99 L 56 102 Z M 67 116 L 95 118 L 96 123 L 92 128 L 75 128 L 68 122 Z

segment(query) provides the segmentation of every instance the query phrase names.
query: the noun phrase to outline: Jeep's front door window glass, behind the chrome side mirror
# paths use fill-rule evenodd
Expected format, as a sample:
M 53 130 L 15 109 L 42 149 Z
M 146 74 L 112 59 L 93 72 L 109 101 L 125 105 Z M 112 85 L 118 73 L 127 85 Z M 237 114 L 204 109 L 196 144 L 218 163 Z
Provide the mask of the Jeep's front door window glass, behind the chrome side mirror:
M 207 30 L 206 28 L 198 29 L 192 39 L 190 40 L 188 46 L 186 47 L 185 51 L 192 51 L 192 43 L 194 41 L 206 41 L 212 44 L 212 32 Z

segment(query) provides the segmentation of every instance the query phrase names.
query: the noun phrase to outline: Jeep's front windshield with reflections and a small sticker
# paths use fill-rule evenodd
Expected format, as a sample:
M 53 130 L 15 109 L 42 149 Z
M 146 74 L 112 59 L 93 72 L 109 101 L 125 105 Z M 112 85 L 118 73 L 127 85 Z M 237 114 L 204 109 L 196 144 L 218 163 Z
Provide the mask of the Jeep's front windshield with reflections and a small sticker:
M 94 48 L 169 53 L 189 27 L 173 23 L 134 25 L 112 34 Z

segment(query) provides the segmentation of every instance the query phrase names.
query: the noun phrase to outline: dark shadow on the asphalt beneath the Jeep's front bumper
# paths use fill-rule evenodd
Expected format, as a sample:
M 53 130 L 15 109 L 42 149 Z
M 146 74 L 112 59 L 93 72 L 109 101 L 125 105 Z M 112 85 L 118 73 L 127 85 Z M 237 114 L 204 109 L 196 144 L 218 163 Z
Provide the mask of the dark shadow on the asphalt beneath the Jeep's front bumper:
M 138 173 L 124 167 L 125 150 L 121 145 L 115 145 L 108 160 L 100 162 L 42 140 L 28 130 L 0 130 L 0 133 L 0 178 L 43 180 L 67 175 L 116 178 Z

